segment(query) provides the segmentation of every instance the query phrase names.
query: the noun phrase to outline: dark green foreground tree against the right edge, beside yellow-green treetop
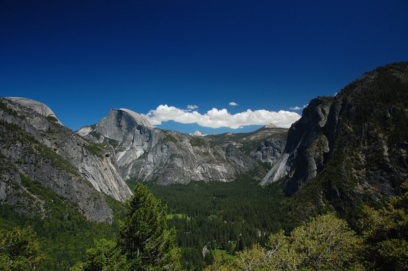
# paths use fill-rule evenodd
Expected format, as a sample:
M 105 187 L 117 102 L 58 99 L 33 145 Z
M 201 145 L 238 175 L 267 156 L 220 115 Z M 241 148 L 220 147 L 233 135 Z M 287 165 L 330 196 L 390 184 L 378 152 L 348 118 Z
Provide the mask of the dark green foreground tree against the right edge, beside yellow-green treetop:
M 408 183 L 402 185 L 408 189 Z M 391 198 L 384 208 L 363 209 L 360 220 L 365 264 L 372 270 L 408 269 L 408 192 Z

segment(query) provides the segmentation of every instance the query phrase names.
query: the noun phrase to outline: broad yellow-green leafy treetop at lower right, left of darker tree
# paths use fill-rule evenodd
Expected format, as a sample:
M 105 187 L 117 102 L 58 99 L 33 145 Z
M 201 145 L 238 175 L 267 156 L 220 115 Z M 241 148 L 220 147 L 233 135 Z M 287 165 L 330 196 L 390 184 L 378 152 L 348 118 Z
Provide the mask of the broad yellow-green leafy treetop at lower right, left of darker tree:
M 295 228 L 269 236 L 265 247 L 238 252 L 224 264 L 227 270 L 363 270 L 358 252 L 360 238 L 333 214 L 318 216 Z M 221 269 L 221 268 L 220 268 Z M 213 270 L 213 267 L 207 270 Z

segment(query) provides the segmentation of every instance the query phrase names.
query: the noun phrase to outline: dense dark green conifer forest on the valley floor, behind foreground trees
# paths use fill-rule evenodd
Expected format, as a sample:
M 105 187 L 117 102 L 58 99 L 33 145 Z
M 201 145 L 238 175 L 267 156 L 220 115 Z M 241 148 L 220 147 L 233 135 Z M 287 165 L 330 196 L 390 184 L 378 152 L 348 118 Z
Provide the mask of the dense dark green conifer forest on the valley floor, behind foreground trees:
M 87 249 L 95 240 L 119 241 L 118 224 L 125 218 L 125 206 L 106 196 L 114 210 L 114 222 L 93 223 L 77 206 L 50 192 L 39 182 L 22 176 L 29 191 L 49 202 L 46 218 L 24 216 L 9 205 L 0 205 L 3 232 L 31 226 L 44 260 L 39 270 L 67 270 L 85 262 Z M 132 181 L 130 182 L 132 183 Z M 136 182 L 130 184 L 133 188 Z M 176 231 L 183 268 L 201 270 L 214 258 L 232 258 L 253 243 L 264 244 L 270 233 L 285 227 L 283 193 L 276 185 L 262 187 L 250 175 L 240 175 L 231 183 L 194 181 L 187 185 L 149 185 L 152 194 L 167 205 L 168 229 Z M 206 257 L 203 248 L 207 249 Z

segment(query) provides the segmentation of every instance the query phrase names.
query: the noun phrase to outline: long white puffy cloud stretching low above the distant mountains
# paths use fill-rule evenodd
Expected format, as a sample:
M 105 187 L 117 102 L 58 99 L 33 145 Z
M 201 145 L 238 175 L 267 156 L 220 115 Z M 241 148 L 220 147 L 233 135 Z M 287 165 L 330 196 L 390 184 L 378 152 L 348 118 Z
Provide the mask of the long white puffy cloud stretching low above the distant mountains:
M 273 123 L 279 127 L 289 128 L 290 125 L 300 119 L 300 115 L 289 111 L 267 111 L 256 110 L 230 114 L 226 109 L 218 110 L 213 108 L 206 114 L 200 114 L 197 111 L 179 109 L 167 104 L 161 104 L 155 110 L 150 110 L 146 117 L 152 125 L 160 125 L 163 121 L 173 120 L 180 123 L 197 123 L 203 127 L 220 128 L 230 127 L 232 129 L 242 128 L 246 125 L 266 125 Z

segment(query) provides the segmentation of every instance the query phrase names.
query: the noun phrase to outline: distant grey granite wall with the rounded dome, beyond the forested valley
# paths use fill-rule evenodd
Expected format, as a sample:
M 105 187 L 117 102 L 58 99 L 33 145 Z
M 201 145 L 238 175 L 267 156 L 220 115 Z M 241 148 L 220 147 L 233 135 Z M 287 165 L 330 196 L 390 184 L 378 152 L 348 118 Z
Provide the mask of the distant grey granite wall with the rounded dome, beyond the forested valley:
M 285 129 L 277 129 L 283 134 L 286 132 Z M 273 132 L 269 130 L 253 133 L 252 139 L 248 137 L 248 143 L 258 145 L 248 147 L 246 153 L 246 149 L 241 148 L 244 144 L 227 136 L 218 142 L 216 135 L 195 137 L 155 129 L 144 117 L 125 109 L 111 109 L 106 118 L 95 125 L 81 128 L 78 133 L 93 142 L 111 144 L 115 148 L 115 158 L 123 178 L 162 185 L 188 183 L 191 180 L 233 181 L 238 173 L 260 168 L 249 149 L 253 152 L 258 150 L 262 161 L 277 160 L 269 155 L 273 151 L 266 150 L 271 148 L 270 145 L 259 146 L 273 137 Z M 257 138 L 258 143 L 253 138 L 256 134 L 262 134 Z M 284 138 L 282 136 L 282 140 Z

